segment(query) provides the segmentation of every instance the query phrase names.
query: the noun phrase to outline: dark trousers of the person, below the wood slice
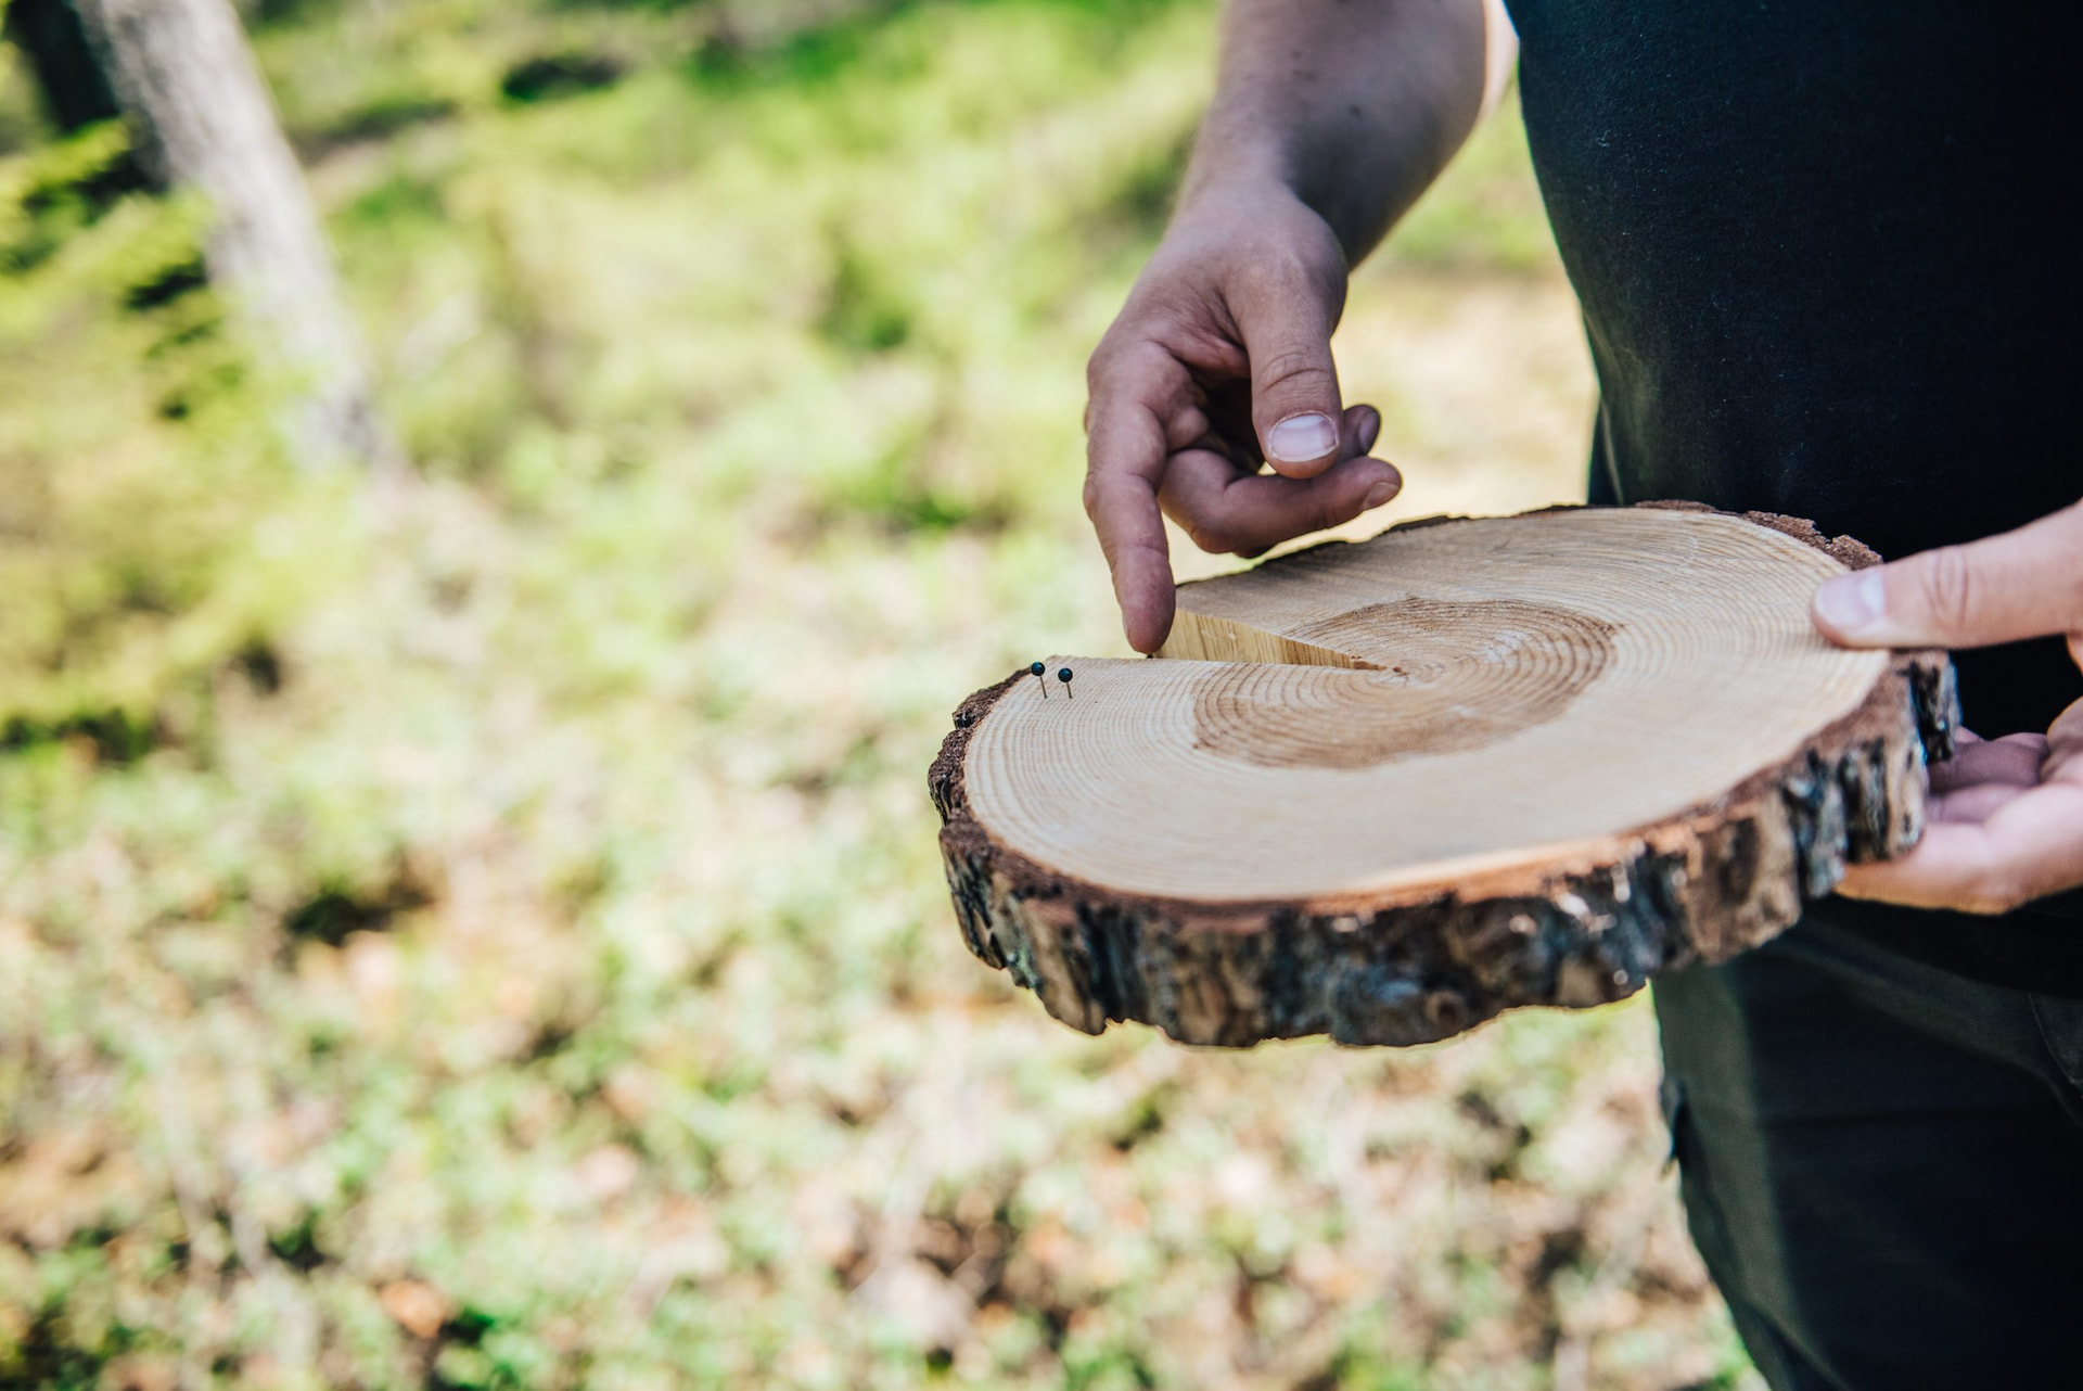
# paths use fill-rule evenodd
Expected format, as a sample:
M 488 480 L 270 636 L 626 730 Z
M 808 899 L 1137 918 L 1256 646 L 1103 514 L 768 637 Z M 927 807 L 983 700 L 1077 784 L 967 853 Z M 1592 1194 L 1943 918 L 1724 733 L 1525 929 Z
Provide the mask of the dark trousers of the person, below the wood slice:
M 1775 1391 L 2083 1387 L 2083 1002 L 1852 912 L 1656 983 L 1693 1241 Z

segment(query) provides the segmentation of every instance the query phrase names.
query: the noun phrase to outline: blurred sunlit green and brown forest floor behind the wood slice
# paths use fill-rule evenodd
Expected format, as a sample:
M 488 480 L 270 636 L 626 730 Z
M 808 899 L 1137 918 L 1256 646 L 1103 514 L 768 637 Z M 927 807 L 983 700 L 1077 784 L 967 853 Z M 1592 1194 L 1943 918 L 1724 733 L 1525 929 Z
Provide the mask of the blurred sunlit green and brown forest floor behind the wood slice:
M 948 710 L 1123 650 L 1083 358 L 1210 6 L 252 27 L 425 483 L 275 456 L 0 50 L 0 1385 L 1754 1385 L 1643 1002 L 1187 1052 L 954 931 Z M 1339 358 L 1391 516 L 1581 496 L 1514 110 Z

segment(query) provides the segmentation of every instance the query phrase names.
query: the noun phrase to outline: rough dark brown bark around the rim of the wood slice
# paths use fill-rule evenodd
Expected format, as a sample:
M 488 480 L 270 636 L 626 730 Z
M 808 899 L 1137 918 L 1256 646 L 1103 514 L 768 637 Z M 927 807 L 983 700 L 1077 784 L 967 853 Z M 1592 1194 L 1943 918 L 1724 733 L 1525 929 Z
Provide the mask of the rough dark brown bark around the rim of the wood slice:
M 1808 523 L 1752 521 L 1852 568 L 1879 560 Z M 1233 1047 L 1316 1033 L 1427 1043 L 1502 1010 L 1606 1004 L 1662 970 L 1729 960 L 1789 927 L 1846 864 L 1916 843 L 1927 758 L 1950 756 L 1958 723 L 1948 656 L 1906 652 L 1793 758 L 1531 879 L 1512 870 L 1419 893 L 1202 904 L 1050 872 L 969 814 L 971 731 L 1021 679 L 962 702 L 931 770 L 964 941 L 1085 1033 L 1141 1020 L 1183 1043 Z

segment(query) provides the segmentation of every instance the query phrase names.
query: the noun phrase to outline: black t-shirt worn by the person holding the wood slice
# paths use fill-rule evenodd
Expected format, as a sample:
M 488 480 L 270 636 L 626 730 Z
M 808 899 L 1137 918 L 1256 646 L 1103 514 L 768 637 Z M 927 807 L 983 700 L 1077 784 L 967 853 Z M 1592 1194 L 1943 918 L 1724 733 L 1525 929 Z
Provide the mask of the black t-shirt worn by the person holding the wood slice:
M 1510 0 L 1541 196 L 1600 381 L 1593 502 L 1787 512 L 1896 558 L 2083 496 L 2079 6 Z M 2060 641 L 1958 656 L 1968 729 L 2083 696 Z M 1831 906 L 2083 995 L 2075 897 Z

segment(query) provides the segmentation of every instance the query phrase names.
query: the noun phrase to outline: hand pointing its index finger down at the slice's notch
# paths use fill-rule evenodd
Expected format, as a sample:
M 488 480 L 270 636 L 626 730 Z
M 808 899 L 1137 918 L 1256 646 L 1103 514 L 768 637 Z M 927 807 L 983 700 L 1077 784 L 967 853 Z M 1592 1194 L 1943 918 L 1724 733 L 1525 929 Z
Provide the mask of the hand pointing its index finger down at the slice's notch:
M 1156 652 L 1173 623 L 1160 508 L 1202 550 L 1256 556 L 1402 487 L 1366 458 L 1381 412 L 1339 402 L 1344 304 L 1337 237 L 1291 192 L 1210 192 L 1091 354 L 1085 512 L 1137 652 Z

